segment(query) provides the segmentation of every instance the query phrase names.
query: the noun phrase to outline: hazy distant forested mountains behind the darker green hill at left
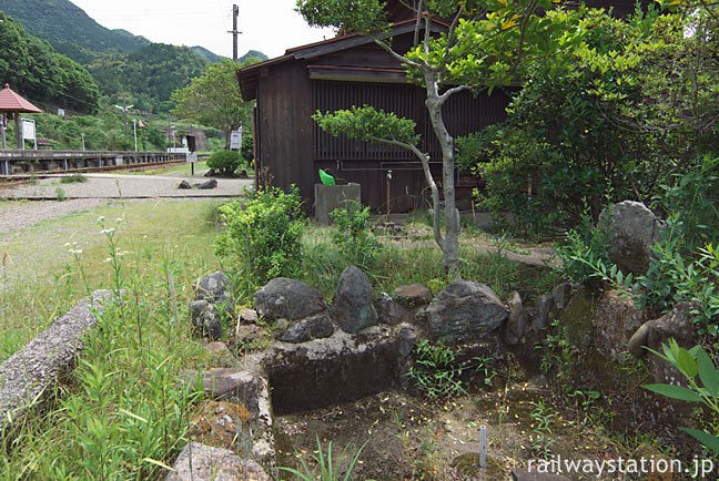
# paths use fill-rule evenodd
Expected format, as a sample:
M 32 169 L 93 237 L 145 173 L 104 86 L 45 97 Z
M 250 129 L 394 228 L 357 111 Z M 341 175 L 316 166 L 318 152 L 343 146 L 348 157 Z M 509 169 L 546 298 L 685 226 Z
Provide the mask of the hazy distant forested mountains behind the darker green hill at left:
M 171 109 L 170 94 L 173 91 L 186 86 L 193 78 L 204 71 L 207 63 L 220 62 L 223 59 L 202 47 L 188 48 L 152 43 L 148 39 L 133 35 L 125 30 L 107 29 L 69 0 L 0 0 L 0 11 L 4 11 L 8 17 L 18 19 L 31 35 L 47 40 L 55 52 L 85 66 L 97 82 L 95 90 L 101 95 L 108 96 L 108 102 L 114 103 L 119 95 L 128 95 L 131 98 L 130 103 L 145 112 L 168 112 Z M 18 22 L 13 22 L 13 24 L 18 24 Z M 0 30 L 2 30 L 2 25 L 0 25 Z M 23 34 L 27 35 L 26 32 Z M 30 52 L 28 55 L 32 57 L 32 60 L 23 60 L 13 55 L 13 51 L 21 51 L 12 43 L 13 41 L 16 40 L 9 38 L 0 45 L 0 49 L 3 49 L 8 54 L 8 57 L 0 57 L 0 62 L 2 59 L 6 62 L 4 66 L 0 63 L 0 75 L 2 75 L 0 81 L 3 79 L 8 79 L 4 80 L 6 82 L 12 81 L 16 90 L 28 93 L 29 96 L 38 101 L 52 103 L 59 100 L 55 99 L 59 94 L 53 98 L 23 83 L 27 81 L 23 80 L 27 75 L 22 74 L 27 71 L 23 62 L 39 64 L 41 62 L 36 62 L 34 54 Z M 24 42 L 37 43 L 28 40 Z M 38 42 L 43 43 L 39 40 Z M 44 42 L 45 50 L 50 47 L 47 42 Z M 36 50 L 38 49 L 36 48 Z M 251 51 L 250 53 L 253 53 L 252 57 L 266 59 L 261 52 Z M 45 54 L 43 59 L 47 57 Z M 67 63 L 67 60 L 65 58 L 63 62 Z M 74 69 L 79 68 L 79 65 L 74 65 Z M 14 76 L 3 74 L 3 68 L 6 71 L 17 71 L 18 74 Z M 80 70 L 84 69 L 80 68 Z M 45 75 L 44 79 L 54 78 L 57 75 Z M 45 83 L 52 84 L 54 80 Z M 60 85 L 53 88 L 59 92 L 75 96 L 69 90 L 61 89 Z M 79 99 L 87 101 L 82 95 Z M 89 101 L 89 103 L 92 102 L 92 100 Z M 89 105 L 82 102 L 60 102 L 59 104 L 82 112 L 92 111 Z M 94 105 L 97 106 L 97 93 Z

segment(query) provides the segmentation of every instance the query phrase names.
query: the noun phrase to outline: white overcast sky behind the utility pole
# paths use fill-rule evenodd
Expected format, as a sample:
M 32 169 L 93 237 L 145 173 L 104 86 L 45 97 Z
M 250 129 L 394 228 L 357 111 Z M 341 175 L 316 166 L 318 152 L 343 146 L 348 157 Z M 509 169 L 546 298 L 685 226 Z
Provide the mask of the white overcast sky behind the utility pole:
M 332 38 L 310 28 L 294 11 L 295 0 L 70 0 L 98 23 L 124 29 L 152 42 L 201 45 L 232 58 L 232 6 L 240 7 L 239 55 L 260 50 L 267 57 L 292 47 Z

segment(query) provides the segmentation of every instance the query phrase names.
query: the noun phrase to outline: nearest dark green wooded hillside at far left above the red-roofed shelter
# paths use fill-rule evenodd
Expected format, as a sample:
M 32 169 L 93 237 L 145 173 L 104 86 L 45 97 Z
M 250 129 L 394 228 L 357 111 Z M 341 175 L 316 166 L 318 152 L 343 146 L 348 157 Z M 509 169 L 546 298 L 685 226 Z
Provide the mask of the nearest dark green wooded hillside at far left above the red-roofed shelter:
M 0 20 L 0 86 L 9 83 L 16 92 L 41 104 L 80 112 L 98 109 L 98 85 L 84 68 L 28 34 L 17 20 L 2 12 Z

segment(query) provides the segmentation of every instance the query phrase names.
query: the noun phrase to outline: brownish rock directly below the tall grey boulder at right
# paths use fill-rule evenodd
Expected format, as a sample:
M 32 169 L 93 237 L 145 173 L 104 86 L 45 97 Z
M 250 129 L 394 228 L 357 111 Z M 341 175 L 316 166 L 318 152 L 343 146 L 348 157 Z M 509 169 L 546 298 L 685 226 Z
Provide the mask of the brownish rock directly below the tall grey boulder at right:
M 644 311 L 637 309 L 631 298 L 618 290 L 605 293 L 597 304 L 595 344 L 602 356 L 621 360 L 629 338 L 644 323 Z

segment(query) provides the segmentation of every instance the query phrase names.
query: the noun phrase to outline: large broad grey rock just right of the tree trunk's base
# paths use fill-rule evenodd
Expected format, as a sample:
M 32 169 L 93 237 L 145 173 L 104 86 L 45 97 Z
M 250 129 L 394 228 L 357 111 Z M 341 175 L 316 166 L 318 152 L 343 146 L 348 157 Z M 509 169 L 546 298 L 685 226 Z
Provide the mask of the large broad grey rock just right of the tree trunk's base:
M 488 286 L 456 280 L 432 301 L 425 316 L 431 336 L 452 342 L 486 336 L 507 318 L 507 308 Z

